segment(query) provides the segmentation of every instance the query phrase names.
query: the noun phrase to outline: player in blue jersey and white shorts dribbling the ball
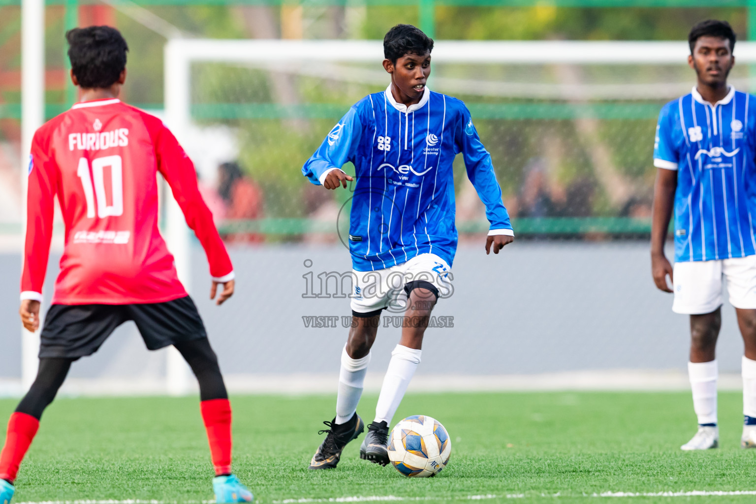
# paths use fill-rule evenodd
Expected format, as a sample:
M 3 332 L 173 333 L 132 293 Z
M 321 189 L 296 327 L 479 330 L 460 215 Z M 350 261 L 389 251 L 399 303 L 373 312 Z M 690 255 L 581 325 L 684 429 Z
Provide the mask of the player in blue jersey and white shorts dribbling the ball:
M 336 418 L 324 422 L 327 436 L 311 469 L 336 467 L 346 444 L 364 430 L 357 404 L 380 313 L 406 306 L 407 323 L 360 447 L 361 459 L 389 462 L 389 424 L 420 363 L 423 333 L 438 294 L 450 290 L 457 249 L 452 170 L 457 153 L 491 223 L 486 254 L 491 249 L 498 254 L 514 240 L 491 156 L 469 111 L 460 100 L 426 88 L 432 48 L 432 39 L 414 26 L 389 30 L 383 39 L 389 87 L 355 104 L 302 167 L 303 175 L 326 189 L 354 180 L 342 172 L 345 162 L 354 163 L 356 175 L 349 226 L 354 322 L 341 356 Z

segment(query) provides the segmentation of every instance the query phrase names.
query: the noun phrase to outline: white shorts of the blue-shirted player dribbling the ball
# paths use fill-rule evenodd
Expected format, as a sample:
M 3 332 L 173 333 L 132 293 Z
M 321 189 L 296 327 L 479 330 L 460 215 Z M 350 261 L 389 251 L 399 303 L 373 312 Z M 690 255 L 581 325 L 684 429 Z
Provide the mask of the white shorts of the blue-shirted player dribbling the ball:
M 355 292 L 352 293 L 352 310 L 358 314 L 388 308 L 393 313 L 407 309 L 407 292 L 404 286 L 414 281 L 432 283 L 438 297 L 448 297 L 451 286 L 451 267 L 435 254 L 420 254 L 404 264 L 376 271 L 356 271 Z M 435 296 L 429 301 L 435 301 Z

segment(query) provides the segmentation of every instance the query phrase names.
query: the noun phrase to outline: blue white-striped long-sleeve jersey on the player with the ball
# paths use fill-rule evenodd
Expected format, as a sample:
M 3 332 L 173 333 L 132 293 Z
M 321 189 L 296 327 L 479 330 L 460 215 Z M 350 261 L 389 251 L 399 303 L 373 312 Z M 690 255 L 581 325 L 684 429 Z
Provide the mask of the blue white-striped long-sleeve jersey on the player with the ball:
M 321 184 L 327 172 L 355 165 L 349 249 L 357 271 L 373 271 L 433 253 L 449 265 L 457 250 L 454 156 L 485 203 L 489 234 L 513 234 L 491 156 L 462 101 L 426 88 L 419 104 L 398 104 L 391 88 L 352 106 L 302 174 Z

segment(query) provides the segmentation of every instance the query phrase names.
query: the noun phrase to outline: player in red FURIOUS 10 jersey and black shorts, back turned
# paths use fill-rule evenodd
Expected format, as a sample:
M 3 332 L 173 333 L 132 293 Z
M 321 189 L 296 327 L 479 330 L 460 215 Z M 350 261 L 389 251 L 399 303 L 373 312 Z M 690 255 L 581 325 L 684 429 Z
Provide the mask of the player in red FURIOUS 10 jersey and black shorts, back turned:
M 20 462 L 71 363 L 94 354 L 127 320 L 148 349 L 174 345 L 197 376 L 216 501 L 251 502 L 252 493 L 231 474 L 231 406 L 218 360 L 157 227 L 160 172 L 205 249 L 211 298 L 219 284 L 218 305 L 233 295 L 231 259 L 197 189 L 194 165 L 160 119 L 118 99 L 129 50 L 118 30 L 77 28 L 66 39 L 81 102 L 45 123 L 32 142 L 19 311 L 29 331 L 39 327 L 54 196 L 66 246 L 42 327 L 39 373 L 8 422 L 0 452 L 0 504 L 10 502 Z

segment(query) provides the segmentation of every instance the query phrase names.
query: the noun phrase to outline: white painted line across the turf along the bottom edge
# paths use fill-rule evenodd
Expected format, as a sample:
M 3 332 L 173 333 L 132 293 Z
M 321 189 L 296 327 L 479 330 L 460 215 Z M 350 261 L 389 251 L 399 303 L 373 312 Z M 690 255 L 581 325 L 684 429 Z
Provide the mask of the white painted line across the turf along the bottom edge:
M 590 497 L 709 497 L 709 496 L 739 496 L 739 495 L 756 495 L 756 490 L 691 490 L 688 492 L 602 492 L 593 494 L 583 494 Z M 542 497 L 559 497 L 561 493 L 541 493 Z M 271 504 L 308 504 L 309 502 L 417 502 L 417 501 L 451 501 L 451 500 L 488 500 L 488 499 L 522 499 L 525 493 L 507 493 L 506 495 L 470 495 L 459 497 L 401 497 L 394 495 L 386 496 L 349 496 L 349 497 L 331 497 L 330 499 L 283 499 L 271 501 Z M 39 502 L 18 502 L 17 504 L 212 504 L 212 500 L 45 500 Z M 260 501 L 262 502 L 262 501 Z

